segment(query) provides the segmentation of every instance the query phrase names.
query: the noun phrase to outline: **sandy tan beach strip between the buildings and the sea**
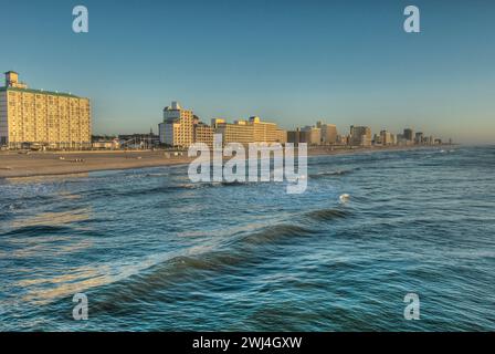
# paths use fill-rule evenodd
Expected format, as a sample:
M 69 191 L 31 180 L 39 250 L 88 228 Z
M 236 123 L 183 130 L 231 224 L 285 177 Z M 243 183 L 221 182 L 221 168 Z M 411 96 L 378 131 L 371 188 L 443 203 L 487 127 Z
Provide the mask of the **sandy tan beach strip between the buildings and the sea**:
M 434 146 L 387 146 L 387 147 L 357 147 L 308 148 L 308 158 L 315 156 L 333 156 L 379 152 L 412 150 L 444 148 L 455 145 Z M 51 177 L 64 175 L 88 174 L 105 170 L 127 170 L 161 166 L 185 165 L 194 158 L 187 156 L 171 156 L 165 150 L 133 150 L 133 152 L 56 152 L 23 154 L 19 152 L 0 153 L 0 179 Z

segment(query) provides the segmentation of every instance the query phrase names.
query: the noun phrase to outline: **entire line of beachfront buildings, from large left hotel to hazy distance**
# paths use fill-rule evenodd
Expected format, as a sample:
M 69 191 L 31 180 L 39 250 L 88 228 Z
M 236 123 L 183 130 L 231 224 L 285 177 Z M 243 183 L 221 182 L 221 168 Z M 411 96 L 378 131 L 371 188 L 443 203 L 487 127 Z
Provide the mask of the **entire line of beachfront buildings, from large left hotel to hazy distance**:
M 338 134 L 335 124 L 317 121 L 313 126 L 286 131 L 276 123 L 263 121 L 259 116 L 247 119 L 211 118 L 208 125 L 172 102 L 162 111 L 162 122 L 158 124 L 158 136 L 150 134 L 126 135 L 127 139 L 102 137 L 93 139 L 89 98 L 71 93 L 29 88 L 19 81 L 19 74 L 6 73 L 6 85 L 0 87 L 0 146 L 23 148 L 38 145 L 51 149 L 124 148 L 129 146 L 154 147 L 164 145 L 187 148 L 193 143 L 213 146 L 213 135 L 221 134 L 223 144 L 229 143 L 307 143 L 309 146 L 364 146 L 440 144 L 441 139 L 414 133 L 406 128 L 403 134 L 392 134 L 381 129 L 371 134 L 369 126 L 350 125 L 347 135 Z M 130 138 L 134 136 L 133 138 Z M 146 136 L 146 138 L 143 138 Z M 139 144 L 137 143 L 139 140 Z M 129 144 L 130 142 L 130 144 Z

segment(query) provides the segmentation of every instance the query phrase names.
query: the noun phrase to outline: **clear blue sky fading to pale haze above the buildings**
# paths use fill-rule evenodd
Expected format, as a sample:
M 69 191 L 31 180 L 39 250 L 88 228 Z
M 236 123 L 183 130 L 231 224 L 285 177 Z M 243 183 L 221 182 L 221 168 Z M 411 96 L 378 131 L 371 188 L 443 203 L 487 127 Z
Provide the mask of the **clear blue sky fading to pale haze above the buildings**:
M 72 9 L 89 33 L 72 31 Z M 421 10 L 421 33 L 402 29 Z M 341 133 L 495 139 L 492 0 L 0 0 L 0 71 L 92 98 L 94 134 L 144 133 L 170 101 Z

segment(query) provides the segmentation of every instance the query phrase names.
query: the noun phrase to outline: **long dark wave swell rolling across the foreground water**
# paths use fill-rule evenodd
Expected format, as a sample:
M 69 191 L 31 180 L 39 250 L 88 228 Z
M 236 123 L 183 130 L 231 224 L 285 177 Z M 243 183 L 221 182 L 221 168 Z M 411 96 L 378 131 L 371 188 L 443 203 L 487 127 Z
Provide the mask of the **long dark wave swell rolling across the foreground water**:
M 186 252 L 165 259 L 137 274 L 109 283 L 96 290 L 102 299 L 92 308 L 95 312 L 119 311 L 118 303 L 126 301 L 146 301 L 154 299 L 154 292 L 169 287 L 198 281 L 210 277 L 212 272 L 232 271 L 238 267 L 246 267 L 260 261 L 263 254 L 257 247 L 281 241 L 284 238 L 305 237 L 315 231 L 294 225 L 277 225 L 217 244 L 214 249 L 204 248 L 201 252 Z M 253 248 L 254 247 L 254 248 Z M 118 301 L 114 300 L 117 296 Z M 115 306 L 118 306 L 116 309 Z

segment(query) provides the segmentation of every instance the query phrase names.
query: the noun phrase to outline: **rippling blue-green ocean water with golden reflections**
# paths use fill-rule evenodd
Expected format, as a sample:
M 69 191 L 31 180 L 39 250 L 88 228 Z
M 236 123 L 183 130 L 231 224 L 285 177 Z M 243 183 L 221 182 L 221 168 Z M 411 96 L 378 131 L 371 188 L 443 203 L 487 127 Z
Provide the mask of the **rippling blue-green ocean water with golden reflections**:
M 303 195 L 187 166 L 0 180 L 0 330 L 495 330 L 495 146 L 308 163 Z

